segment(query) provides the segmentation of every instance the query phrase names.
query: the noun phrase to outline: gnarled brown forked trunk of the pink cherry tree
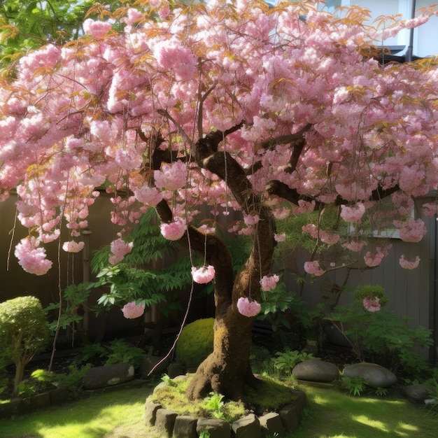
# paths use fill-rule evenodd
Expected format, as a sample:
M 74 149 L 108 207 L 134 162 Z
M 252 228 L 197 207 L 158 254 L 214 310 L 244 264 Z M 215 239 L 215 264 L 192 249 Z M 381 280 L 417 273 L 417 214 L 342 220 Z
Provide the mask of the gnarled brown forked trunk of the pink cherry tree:
M 257 215 L 253 248 L 240 273 L 233 278 L 232 260 L 225 243 L 218 236 L 204 235 L 193 227 L 181 239 L 181 243 L 198 250 L 208 264 L 216 270 L 214 299 L 216 321 L 214 325 L 214 350 L 201 365 L 188 388 L 188 397 L 205 397 L 211 390 L 229 400 L 241 400 L 246 383 L 254 383 L 249 353 L 254 319 L 239 313 L 237 300 L 248 297 L 260 301 L 260 278 L 269 274 L 274 255 L 275 224 L 271 211 L 254 195 L 245 171 L 228 153 L 218 152 L 222 132 L 211 132 L 199 140 L 192 155 L 200 167 L 220 176 L 232 191 L 243 213 Z M 172 220 L 166 202 L 157 205 L 157 213 L 163 222 Z

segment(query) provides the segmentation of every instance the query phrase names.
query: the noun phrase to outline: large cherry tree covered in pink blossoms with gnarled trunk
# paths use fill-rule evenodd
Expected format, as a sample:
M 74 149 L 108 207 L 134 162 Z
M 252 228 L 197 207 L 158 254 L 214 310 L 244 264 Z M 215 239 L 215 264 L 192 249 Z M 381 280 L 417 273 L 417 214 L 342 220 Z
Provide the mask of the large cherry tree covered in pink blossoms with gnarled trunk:
M 274 249 L 288 230 L 277 224 L 316 213 L 299 232 L 369 266 L 388 248 L 368 242 L 367 228 L 389 221 L 405 241 L 425 234 L 411 211 L 438 183 L 437 62 L 383 66 L 373 44 L 433 12 L 379 30 L 362 24 L 366 11 L 333 16 L 317 2 L 140 3 L 143 11 L 87 19 L 82 38 L 29 52 L 3 75 L 0 198 L 17 190 L 29 236 L 15 255 L 37 275 L 50 269 L 44 246 L 61 230 L 62 248 L 81 250 L 97 188 L 113 194 L 120 225 L 111 263 L 129 253 L 135 242 L 124 236 L 155 207 L 163 236 L 202 255 L 194 281 L 214 281 L 214 351 L 188 396 L 214 390 L 239 400 L 245 384 L 257 384 L 251 330 L 278 281 Z M 232 210 L 241 220 L 230 231 L 253 239 L 235 277 L 214 229 Z M 433 215 L 435 204 L 423 210 Z M 327 211 L 337 218 L 330 227 Z M 315 250 L 304 269 L 333 268 Z M 136 314 L 136 304 L 125 310 Z

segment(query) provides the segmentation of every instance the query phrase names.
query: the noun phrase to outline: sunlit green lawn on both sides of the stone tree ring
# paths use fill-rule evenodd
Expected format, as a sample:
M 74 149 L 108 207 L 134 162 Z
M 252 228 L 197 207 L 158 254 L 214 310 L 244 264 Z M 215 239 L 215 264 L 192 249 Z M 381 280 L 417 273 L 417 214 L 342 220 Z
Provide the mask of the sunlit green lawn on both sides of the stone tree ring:
M 437 416 L 407 400 L 351 397 L 304 387 L 308 407 L 292 438 L 379 438 L 437 436 Z M 2 438 L 159 438 L 146 430 L 143 407 L 153 386 L 94 395 L 57 408 L 0 420 Z

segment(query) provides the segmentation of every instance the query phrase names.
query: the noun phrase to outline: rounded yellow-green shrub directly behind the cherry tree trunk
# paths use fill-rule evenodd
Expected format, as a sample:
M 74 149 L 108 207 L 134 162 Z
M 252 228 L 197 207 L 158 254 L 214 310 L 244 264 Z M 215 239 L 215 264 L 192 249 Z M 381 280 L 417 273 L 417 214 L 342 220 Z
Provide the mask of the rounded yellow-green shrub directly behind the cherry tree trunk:
M 214 318 L 204 318 L 186 325 L 176 343 L 176 359 L 186 368 L 196 368 L 213 351 Z

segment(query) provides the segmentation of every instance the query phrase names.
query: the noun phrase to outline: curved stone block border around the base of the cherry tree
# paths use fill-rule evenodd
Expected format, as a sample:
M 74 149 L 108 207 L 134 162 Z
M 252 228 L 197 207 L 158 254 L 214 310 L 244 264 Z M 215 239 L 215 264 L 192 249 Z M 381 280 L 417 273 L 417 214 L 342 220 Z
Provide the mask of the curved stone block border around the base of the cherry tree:
M 168 438 L 198 438 L 202 432 L 209 432 L 210 438 L 285 437 L 297 430 L 306 407 L 306 394 L 299 390 L 293 390 L 293 394 L 297 396 L 294 402 L 281 408 L 278 413 L 269 412 L 260 417 L 249 414 L 233 423 L 216 418 L 178 416 L 175 411 L 146 400 L 146 426 L 154 428 L 160 437 Z

